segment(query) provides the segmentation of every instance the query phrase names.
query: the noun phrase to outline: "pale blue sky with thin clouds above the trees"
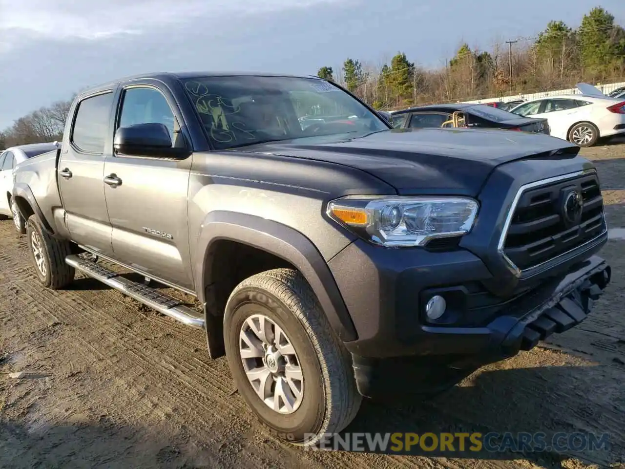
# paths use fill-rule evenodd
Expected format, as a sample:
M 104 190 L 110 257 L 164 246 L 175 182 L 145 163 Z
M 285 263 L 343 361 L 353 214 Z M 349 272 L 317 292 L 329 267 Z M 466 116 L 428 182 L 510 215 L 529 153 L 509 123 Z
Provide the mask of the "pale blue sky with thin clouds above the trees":
M 624 0 L 0 0 L 0 129 L 74 91 L 148 71 L 314 74 L 347 57 L 397 51 L 444 64 L 462 42 L 533 36 L 551 19 L 579 26 Z

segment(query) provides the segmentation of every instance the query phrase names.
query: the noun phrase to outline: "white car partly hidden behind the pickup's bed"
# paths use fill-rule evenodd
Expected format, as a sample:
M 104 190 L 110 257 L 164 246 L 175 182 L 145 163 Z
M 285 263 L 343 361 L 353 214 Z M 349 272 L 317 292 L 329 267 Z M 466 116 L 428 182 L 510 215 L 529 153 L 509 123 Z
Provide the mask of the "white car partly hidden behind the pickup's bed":
M 33 143 L 30 145 L 12 146 L 0 153 L 0 220 L 9 216 L 13 218 L 17 233 L 26 233 L 25 222 L 17 206 L 12 200 L 13 168 L 26 159 L 38 156 L 57 148 L 55 143 Z

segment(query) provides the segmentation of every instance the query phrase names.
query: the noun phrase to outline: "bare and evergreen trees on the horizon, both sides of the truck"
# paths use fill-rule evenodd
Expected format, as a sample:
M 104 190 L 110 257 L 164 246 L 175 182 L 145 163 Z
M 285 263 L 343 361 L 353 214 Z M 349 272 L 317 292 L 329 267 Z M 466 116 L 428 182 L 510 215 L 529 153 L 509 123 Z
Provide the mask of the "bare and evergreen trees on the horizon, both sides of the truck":
M 377 109 L 533 93 L 625 77 L 625 29 L 601 7 L 585 14 L 577 29 L 550 21 L 535 38 L 517 39 L 512 54 L 507 45 L 494 44 L 483 51 L 462 44 L 439 69 L 423 68 L 401 51 L 379 66 L 348 58 L 336 74 L 324 66 L 317 76 L 341 83 Z M 0 148 L 61 139 L 72 99 L 14 121 L 0 133 Z

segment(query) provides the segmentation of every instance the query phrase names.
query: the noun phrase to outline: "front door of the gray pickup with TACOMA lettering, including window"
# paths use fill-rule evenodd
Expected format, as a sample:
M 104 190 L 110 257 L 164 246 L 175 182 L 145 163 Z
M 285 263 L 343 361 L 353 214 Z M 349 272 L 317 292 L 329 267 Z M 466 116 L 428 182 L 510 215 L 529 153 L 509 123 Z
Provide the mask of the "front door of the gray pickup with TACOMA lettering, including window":
M 166 94 L 168 97 L 166 97 Z M 156 86 L 124 89 L 116 129 L 165 124 L 174 145 L 183 139 L 173 96 Z M 114 257 L 156 280 L 193 289 L 187 231 L 191 157 L 177 161 L 116 152 L 106 158 L 106 204 L 113 228 Z

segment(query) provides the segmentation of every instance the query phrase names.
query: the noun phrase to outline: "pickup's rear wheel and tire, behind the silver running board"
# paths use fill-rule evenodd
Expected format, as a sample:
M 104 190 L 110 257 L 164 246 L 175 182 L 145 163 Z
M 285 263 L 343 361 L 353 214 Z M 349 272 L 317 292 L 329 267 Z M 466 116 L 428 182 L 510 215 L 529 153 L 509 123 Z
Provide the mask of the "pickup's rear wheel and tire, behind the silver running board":
M 71 254 L 69 241 L 56 240 L 42 228 L 36 215 L 26 222 L 26 236 L 32 264 L 41 285 L 59 290 L 74 280 L 76 271 L 65 263 Z

